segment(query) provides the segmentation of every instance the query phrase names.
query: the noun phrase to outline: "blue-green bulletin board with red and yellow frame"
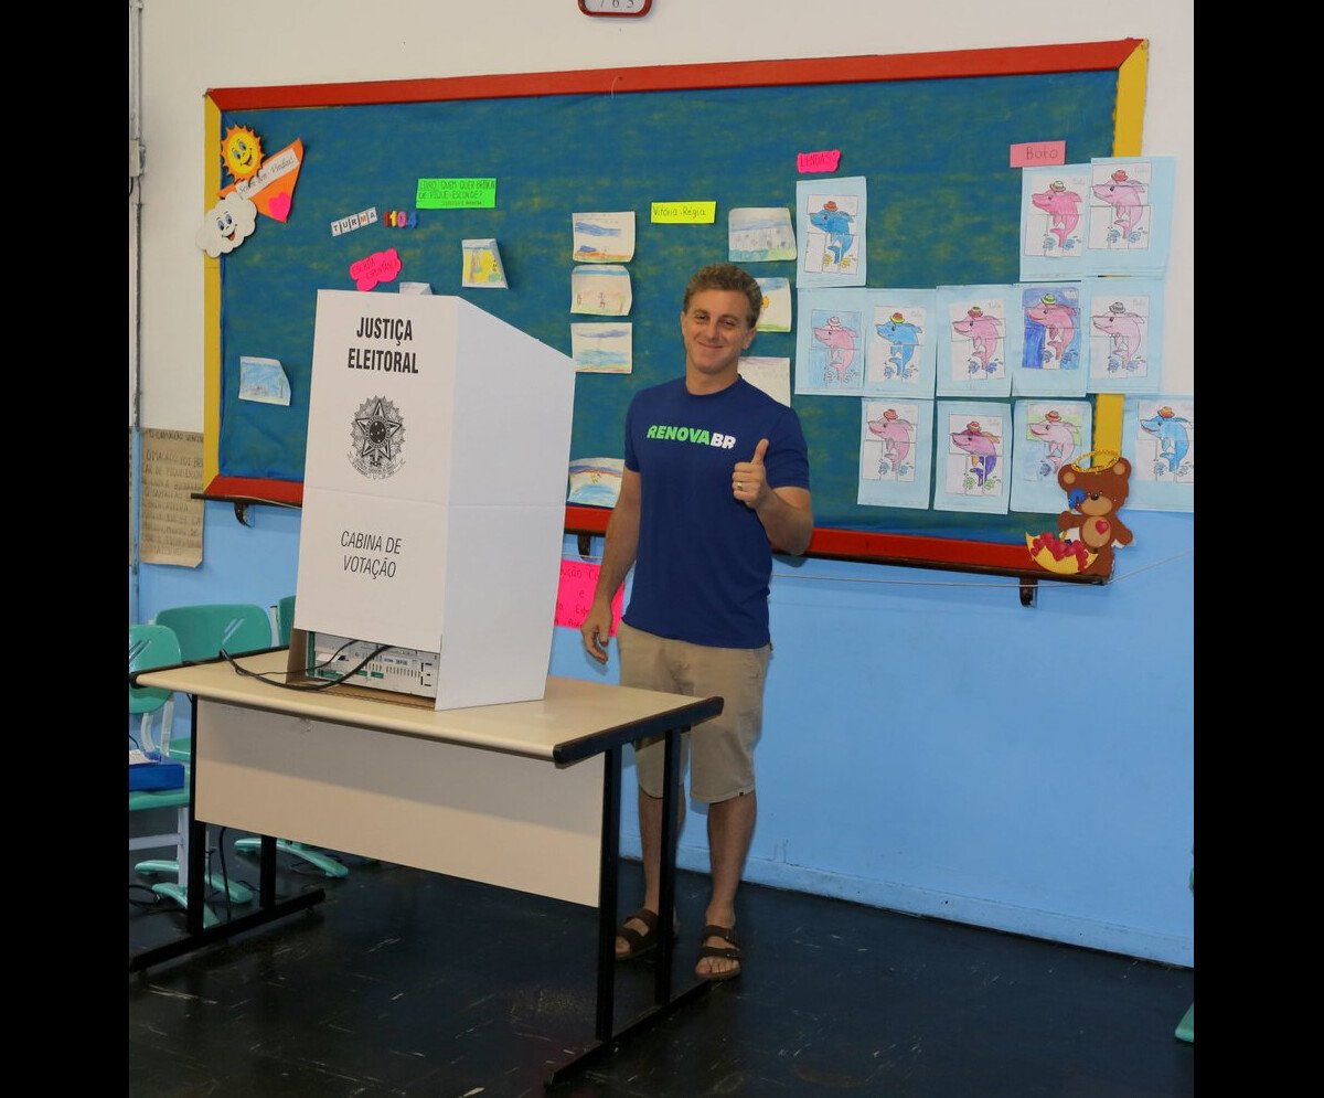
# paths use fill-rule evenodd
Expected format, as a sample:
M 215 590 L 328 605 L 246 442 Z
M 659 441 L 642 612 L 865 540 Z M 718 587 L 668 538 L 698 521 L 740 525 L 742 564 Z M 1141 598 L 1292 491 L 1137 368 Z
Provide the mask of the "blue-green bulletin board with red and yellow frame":
M 727 212 L 794 211 L 797 154 L 841 150 L 833 176 L 869 187 L 869 286 L 1013 283 L 1021 172 L 1009 147 L 1064 140 L 1070 163 L 1140 154 L 1147 44 L 601 69 L 368 83 L 212 89 L 204 101 L 207 209 L 230 180 L 221 142 L 248 127 L 263 155 L 302 142 L 285 223 L 258 217 L 207 268 L 205 498 L 302 502 L 319 289 L 354 289 L 350 266 L 395 248 L 400 281 L 455 294 L 569 355 L 572 215 L 636 212 L 626 264 L 633 372 L 576 379 L 572 458 L 620 457 L 636 389 L 679 376 L 681 297 L 727 260 Z M 490 209 L 424 209 L 420 177 L 491 177 Z M 830 177 L 830 176 L 829 176 Z M 712 224 L 651 224 L 654 201 L 716 203 Z M 373 208 L 380 220 L 332 234 Z M 461 241 L 495 238 L 508 289 L 461 285 Z M 796 285 L 796 262 L 748 264 Z M 371 293 L 397 293 L 397 282 Z M 798 323 L 796 317 L 794 323 Z M 794 331 L 749 354 L 794 359 Z M 241 356 L 279 360 L 290 404 L 238 399 Z M 493 368 L 500 368 L 494 363 Z M 794 367 L 793 367 L 794 368 Z M 1010 412 L 1010 401 L 1009 412 Z M 810 450 L 810 555 L 965 571 L 1034 571 L 1026 531 L 1046 517 L 855 502 L 859 400 L 796 396 Z M 1110 434 L 1111 433 L 1111 434 Z M 1120 438 L 1120 397 L 1096 397 L 1095 448 Z M 601 532 L 609 511 L 567 506 L 567 530 Z

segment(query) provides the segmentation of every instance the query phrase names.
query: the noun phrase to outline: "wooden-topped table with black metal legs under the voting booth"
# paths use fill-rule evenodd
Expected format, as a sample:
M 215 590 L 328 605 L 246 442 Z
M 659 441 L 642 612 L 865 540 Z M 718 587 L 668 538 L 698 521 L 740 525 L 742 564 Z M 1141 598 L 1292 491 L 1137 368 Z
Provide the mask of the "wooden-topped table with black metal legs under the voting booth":
M 237 666 L 236 666 L 237 665 Z M 679 735 L 723 699 L 548 675 L 540 701 L 434 710 L 392 697 L 291 690 L 283 648 L 138 672 L 193 702 L 187 935 L 130 958 L 181 956 L 324 899 L 275 895 L 275 837 L 597 906 L 594 1042 L 568 1073 L 692 995 L 671 991 Z M 237 669 L 238 668 L 238 669 Z M 654 1003 L 614 1028 L 622 747 L 666 736 L 662 895 Z M 258 909 L 203 926 L 205 828 L 262 836 Z

